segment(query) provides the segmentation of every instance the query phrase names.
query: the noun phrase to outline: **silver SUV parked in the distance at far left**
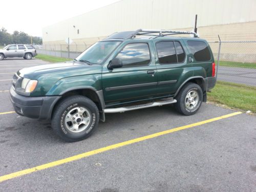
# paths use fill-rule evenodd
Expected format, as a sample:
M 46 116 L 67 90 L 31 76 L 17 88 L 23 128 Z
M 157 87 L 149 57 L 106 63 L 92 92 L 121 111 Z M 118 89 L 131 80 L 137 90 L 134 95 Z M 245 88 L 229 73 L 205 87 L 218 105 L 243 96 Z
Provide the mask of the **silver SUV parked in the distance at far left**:
M 7 57 L 23 57 L 25 59 L 32 59 L 36 55 L 36 50 L 32 45 L 8 45 L 3 49 L 0 49 L 0 60 Z

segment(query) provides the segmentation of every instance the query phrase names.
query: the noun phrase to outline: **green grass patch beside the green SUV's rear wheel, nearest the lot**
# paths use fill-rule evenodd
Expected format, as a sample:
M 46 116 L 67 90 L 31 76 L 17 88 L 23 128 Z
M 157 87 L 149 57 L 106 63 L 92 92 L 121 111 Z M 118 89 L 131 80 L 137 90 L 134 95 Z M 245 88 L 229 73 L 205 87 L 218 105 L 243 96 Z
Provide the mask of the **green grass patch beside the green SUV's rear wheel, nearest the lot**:
M 207 96 L 208 101 L 256 113 L 256 87 L 217 81 L 215 88 Z

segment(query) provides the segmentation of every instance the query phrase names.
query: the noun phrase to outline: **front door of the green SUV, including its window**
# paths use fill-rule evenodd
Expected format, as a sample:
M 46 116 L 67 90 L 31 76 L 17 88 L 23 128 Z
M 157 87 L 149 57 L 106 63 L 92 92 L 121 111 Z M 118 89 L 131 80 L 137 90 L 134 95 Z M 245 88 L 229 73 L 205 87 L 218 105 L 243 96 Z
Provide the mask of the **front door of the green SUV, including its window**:
M 102 88 L 106 105 L 154 97 L 157 92 L 157 70 L 149 42 L 130 42 L 114 57 L 121 68 L 103 69 Z

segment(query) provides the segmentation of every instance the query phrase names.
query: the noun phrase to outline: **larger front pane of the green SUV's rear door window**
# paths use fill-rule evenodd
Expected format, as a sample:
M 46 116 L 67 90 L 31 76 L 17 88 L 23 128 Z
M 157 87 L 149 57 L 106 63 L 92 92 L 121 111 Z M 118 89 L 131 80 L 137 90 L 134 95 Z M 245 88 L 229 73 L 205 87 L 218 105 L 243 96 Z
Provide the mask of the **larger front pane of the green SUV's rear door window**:
M 156 44 L 160 63 L 177 63 L 173 41 L 160 41 Z

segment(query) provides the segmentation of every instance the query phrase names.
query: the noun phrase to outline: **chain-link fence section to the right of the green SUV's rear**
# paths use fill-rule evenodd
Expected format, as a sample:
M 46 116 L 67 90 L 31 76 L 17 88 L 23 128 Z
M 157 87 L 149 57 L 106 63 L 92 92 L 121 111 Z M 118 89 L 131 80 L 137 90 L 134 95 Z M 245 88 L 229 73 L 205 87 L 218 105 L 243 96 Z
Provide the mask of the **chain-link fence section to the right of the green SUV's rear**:
M 215 41 L 209 45 L 219 64 L 218 80 L 256 87 L 256 41 Z

